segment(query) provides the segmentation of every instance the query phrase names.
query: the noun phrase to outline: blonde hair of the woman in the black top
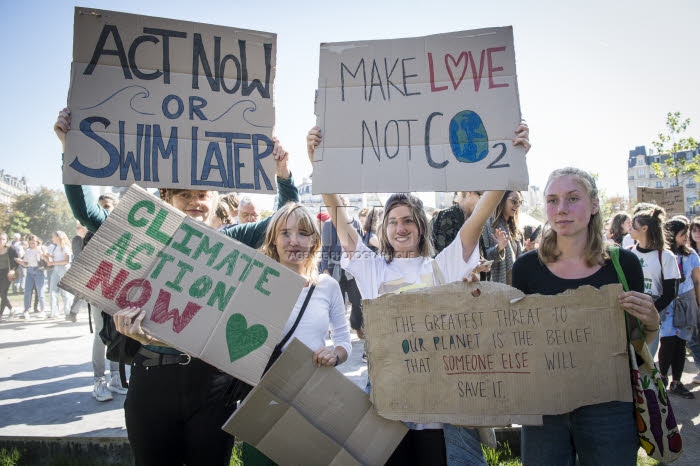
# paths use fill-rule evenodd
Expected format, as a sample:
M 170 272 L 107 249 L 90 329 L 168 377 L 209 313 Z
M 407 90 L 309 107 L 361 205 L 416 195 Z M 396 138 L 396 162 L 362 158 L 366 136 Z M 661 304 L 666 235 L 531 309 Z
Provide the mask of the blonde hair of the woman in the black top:
M 588 172 L 575 167 L 560 168 L 550 173 L 544 188 L 545 196 L 547 195 L 547 188 L 549 188 L 552 181 L 562 176 L 571 176 L 574 178 L 575 182 L 588 194 L 591 202 L 596 206 L 599 205 L 598 187 L 596 186 L 595 179 Z M 588 221 L 587 238 L 586 247 L 584 249 L 586 265 L 589 267 L 602 265 L 609 256 L 605 249 L 603 216 L 600 213 L 600 208 L 598 208 L 596 213 L 591 214 L 591 218 Z M 547 222 L 543 229 L 540 248 L 537 251 L 540 260 L 545 264 L 556 262 L 561 255 L 561 251 L 559 251 L 559 247 L 557 246 L 557 232 L 552 230 L 549 222 Z

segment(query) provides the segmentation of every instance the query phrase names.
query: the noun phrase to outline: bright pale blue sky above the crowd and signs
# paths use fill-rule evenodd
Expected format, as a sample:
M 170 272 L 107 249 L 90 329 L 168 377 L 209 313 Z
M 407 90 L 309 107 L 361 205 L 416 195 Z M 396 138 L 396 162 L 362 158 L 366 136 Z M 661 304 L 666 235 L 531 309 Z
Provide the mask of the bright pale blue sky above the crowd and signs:
M 0 0 L 0 169 L 33 188 L 62 189 L 52 127 L 66 106 L 73 11 L 85 6 L 277 34 L 275 133 L 295 179 L 311 172 L 305 136 L 315 122 L 322 42 L 396 39 L 513 26 L 518 89 L 530 127 L 530 184 L 555 168 L 599 176 L 627 197 L 629 150 L 665 130 L 680 111 L 700 138 L 700 2 L 696 0 Z

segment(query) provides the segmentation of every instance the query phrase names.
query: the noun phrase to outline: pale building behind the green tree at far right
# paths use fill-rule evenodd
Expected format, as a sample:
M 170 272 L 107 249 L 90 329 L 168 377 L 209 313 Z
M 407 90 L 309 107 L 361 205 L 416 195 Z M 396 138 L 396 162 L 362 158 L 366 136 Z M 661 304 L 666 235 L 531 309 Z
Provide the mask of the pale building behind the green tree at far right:
M 677 152 L 676 160 L 685 159 L 690 162 L 693 157 L 700 154 L 700 148 Z M 627 185 L 629 188 L 630 204 L 634 205 L 637 202 L 637 188 L 674 188 L 683 186 L 683 200 L 685 204 L 685 215 L 692 217 L 700 214 L 700 205 L 695 205 L 698 200 L 698 183 L 692 174 L 679 175 L 678 180 L 675 177 L 668 176 L 665 161 L 670 155 L 654 154 L 650 149 L 647 151 L 646 146 L 637 146 L 629 151 L 627 160 Z M 652 167 L 652 164 L 660 163 L 666 176 L 659 178 Z

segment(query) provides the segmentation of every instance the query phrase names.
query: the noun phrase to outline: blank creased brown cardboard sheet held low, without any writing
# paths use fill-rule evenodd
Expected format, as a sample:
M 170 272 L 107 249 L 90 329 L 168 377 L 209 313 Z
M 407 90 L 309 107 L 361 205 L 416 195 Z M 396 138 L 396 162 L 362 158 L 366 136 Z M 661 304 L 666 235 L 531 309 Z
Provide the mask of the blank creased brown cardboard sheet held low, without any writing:
M 407 432 L 296 338 L 223 429 L 278 464 L 384 464 Z

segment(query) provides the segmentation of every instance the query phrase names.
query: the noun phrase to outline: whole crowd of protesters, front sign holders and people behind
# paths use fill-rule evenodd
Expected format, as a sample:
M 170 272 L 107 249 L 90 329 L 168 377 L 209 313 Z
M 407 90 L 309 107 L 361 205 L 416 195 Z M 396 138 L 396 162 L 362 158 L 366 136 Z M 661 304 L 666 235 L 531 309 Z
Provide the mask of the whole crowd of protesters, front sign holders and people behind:
M 54 126 L 64 149 L 69 129 L 70 112 L 64 109 Z M 528 127 L 521 124 L 513 144 L 528 150 L 528 136 Z M 307 134 L 310 160 L 321 140 L 321 128 Z M 520 224 L 523 197 L 518 191 L 456 192 L 453 205 L 432 216 L 418 197 L 398 193 L 383 207 L 363 209 L 358 219 L 343 196 L 324 194 L 327 211 L 312 213 L 299 204 L 288 153 L 277 140 L 272 154 L 279 202 L 265 219 L 249 197 L 235 193 L 160 189 L 159 194 L 188 216 L 260 248 L 306 279 L 283 335 L 312 348 L 317 366 L 335 367 L 349 358 L 351 329 L 364 338 L 362 299 L 460 280 L 490 280 L 545 295 L 582 285 L 601 287 L 618 283 L 608 251 L 619 246 L 630 289 L 620 294 L 620 306 L 640 320 L 653 353 L 658 347 L 666 383 L 671 372 L 669 392 L 693 397 L 680 378 L 686 347 L 700 368 L 697 324 L 676 327 L 673 316 L 680 299 L 700 302 L 700 217 L 666 220 L 661 207 L 643 203 L 631 214 L 614 214 L 604 227 L 595 179 L 575 168 L 550 174 L 544 189 L 545 225 Z M 57 283 L 118 198 L 95 199 L 89 188 L 76 185 L 66 185 L 65 191 L 79 222 L 72 242 L 62 231 L 51 234 L 48 247 L 35 235 L 15 234 L 9 242 L 0 233 L 0 319 L 5 308 L 10 316 L 16 311 L 8 299 L 10 288 L 24 293 L 23 318 L 31 318 L 33 293 L 36 316 L 46 313 L 48 286 L 48 317 L 62 313 L 77 321 L 79 303 Z M 97 327 L 100 314 L 93 308 Z M 119 332 L 142 344 L 130 368 L 128 390 L 114 363 L 105 379 L 105 348 L 95 330 L 93 397 L 108 401 L 110 392 L 126 394 L 126 426 L 136 464 L 228 464 L 234 439 L 221 426 L 247 393 L 236 388 L 241 381 L 149 335 L 141 326 L 144 317 L 139 308 L 122 309 L 113 317 Z M 326 342 L 329 335 L 331 344 Z M 700 374 L 693 382 L 700 383 Z M 371 390 L 370 380 L 366 390 Z M 522 429 L 523 463 L 573 464 L 578 457 L 582 465 L 635 464 L 639 443 L 632 410 L 630 399 L 544 416 L 542 426 Z M 407 425 L 409 433 L 387 464 L 486 464 L 476 429 Z M 266 462 L 257 452 L 246 464 Z

